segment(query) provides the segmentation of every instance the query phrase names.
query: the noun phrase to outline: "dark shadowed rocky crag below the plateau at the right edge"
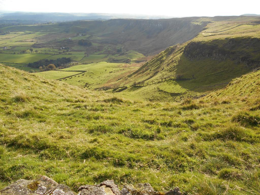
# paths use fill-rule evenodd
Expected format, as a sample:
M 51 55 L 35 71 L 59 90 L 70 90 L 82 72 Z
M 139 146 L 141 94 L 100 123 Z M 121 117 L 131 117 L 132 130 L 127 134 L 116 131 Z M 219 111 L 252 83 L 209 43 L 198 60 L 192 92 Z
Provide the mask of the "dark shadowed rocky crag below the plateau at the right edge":
M 211 42 L 190 42 L 184 49 L 189 60 L 227 60 L 245 63 L 248 68 L 260 67 L 260 40 L 258 38 L 230 38 Z

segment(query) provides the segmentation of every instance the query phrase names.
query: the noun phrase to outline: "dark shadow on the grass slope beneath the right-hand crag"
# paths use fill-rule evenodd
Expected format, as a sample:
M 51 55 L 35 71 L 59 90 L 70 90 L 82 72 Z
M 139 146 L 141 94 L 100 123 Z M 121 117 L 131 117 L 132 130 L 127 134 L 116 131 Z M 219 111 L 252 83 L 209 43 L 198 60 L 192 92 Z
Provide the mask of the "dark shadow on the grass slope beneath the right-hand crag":
M 176 75 L 183 78 L 176 82 L 185 89 L 200 93 L 224 88 L 232 79 L 252 71 L 245 63 L 237 64 L 230 59 L 190 60 L 184 54 L 176 69 Z

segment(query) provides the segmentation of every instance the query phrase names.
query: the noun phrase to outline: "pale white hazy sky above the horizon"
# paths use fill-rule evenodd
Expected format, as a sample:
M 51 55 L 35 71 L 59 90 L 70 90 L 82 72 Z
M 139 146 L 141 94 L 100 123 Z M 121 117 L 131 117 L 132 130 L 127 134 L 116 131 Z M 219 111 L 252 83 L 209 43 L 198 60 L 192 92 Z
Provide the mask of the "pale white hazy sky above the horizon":
M 0 0 L 0 10 L 5 11 L 125 13 L 176 17 L 260 14 L 259 7 L 259 0 Z

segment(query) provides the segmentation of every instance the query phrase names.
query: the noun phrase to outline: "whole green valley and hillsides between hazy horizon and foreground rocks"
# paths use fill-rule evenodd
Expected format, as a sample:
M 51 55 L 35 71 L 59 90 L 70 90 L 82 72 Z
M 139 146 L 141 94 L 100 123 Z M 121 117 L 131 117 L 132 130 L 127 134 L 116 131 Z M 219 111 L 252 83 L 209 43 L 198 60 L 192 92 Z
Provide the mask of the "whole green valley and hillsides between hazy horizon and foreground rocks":
M 0 29 L 0 189 L 260 194 L 260 17 Z

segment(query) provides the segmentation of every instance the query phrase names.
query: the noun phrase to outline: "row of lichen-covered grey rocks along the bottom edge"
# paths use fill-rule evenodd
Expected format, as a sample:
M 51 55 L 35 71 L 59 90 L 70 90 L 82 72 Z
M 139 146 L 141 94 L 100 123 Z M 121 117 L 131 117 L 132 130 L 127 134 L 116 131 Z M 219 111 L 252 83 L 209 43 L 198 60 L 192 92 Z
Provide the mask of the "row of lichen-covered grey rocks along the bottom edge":
M 34 180 L 20 179 L 0 190 L 0 195 L 181 195 L 178 187 L 168 192 L 156 192 L 148 184 L 125 185 L 120 191 L 113 180 L 106 180 L 98 185 L 83 185 L 78 193 L 68 186 L 58 184 L 46 177 L 38 176 Z

